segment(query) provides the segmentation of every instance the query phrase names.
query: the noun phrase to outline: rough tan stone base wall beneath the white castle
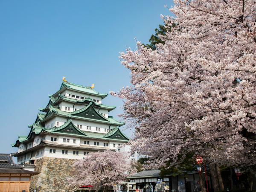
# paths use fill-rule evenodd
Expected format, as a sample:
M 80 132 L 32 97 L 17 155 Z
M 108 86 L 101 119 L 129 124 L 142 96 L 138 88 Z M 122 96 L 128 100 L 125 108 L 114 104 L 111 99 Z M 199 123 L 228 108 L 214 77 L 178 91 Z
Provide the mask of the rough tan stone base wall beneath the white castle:
M 35 160 L 35 172 L 31 177 L 30 187 L 41 186 L 41 192 L 73 192 L 77 188 L 70 187 L 67 177 L 73 177 L 73 159 L 43 157 Z

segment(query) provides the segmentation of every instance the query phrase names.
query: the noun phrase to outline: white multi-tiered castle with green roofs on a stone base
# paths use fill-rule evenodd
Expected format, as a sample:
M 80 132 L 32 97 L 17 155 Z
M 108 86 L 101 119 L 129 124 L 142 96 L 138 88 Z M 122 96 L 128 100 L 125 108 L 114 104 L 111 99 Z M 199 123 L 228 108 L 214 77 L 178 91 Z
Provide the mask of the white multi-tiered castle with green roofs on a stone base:
M 72 192 L 67 177 L 74 160 L 95 151 L 119 150 L 128 143 L 119 129 L 124 123 L 108 114 L 116 107 L 102 104 L 106 96 L 94 90 L 94 84 L 86 87 L 62 79 L 47 106 L 39 108 L 29 134 L 12 144 L 18 148 L 13 154 L 17 163 L 34 164 L 39 172 L 32 177 L 31 187 L 40 186 L 41 192 Z

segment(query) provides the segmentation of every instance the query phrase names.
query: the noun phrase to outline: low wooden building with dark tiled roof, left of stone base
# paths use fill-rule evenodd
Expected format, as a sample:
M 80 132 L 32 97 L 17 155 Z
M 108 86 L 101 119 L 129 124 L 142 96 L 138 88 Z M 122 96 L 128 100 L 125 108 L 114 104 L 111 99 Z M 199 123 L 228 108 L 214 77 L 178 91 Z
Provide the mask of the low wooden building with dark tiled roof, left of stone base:
M 0 192 L 29 192 L 30 176 L 35 174 L 15 164 L 11 154 L 0 153 Z

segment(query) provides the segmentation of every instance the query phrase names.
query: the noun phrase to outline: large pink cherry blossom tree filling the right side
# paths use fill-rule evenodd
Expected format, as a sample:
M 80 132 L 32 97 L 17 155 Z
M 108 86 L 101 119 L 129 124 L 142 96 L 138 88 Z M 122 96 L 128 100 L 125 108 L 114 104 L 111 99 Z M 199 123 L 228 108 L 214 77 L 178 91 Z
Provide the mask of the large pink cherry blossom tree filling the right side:
M 174 0 L 162 16 L 164 44 L 121 52 L 131 86 L 118 93 L 135 127 L 133 150 L 151 167 L 175 165 L 187 154 L 211 165 L 256 161 L 256 3 L 254 0 Z M 217 169 L 217 168 L 216 168 Z M 218 170 L 216 170 L 218 172 Z

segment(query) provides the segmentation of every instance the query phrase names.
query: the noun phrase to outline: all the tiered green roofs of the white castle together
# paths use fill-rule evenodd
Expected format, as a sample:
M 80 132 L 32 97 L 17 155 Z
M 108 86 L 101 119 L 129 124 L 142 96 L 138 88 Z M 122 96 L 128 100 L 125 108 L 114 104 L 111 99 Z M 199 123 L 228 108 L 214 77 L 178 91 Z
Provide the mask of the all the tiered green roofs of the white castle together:
M 126 137 L 122 131 L 119 129 L 119 126 L 124 125 L 124 122 L 119 122 L 116 119 L 113 118 L 113 116 L 108 116 L 108 118 L 105 118 L 102 116 L 95 108 L 104 108 L 108 111 L 113 110 L 116 108 L 116 106 L 108 106 L 99 104 L 97 102 L 94 102 L 93 99 L 85 98 L 81 100 L 67 98 L 65 96 L 61 96 L 60 93 L 64 90 L 74 90 L 80 93 L 86 93 L 92 96 L 100 96 L 102 99 L 105 98 L 108 94 L 107 93 L 99 93 L 96 92 L 91 87 L 86 87 L 78 84 L 73 84 L 70 82 L 62 82 L 60 89 L 52 94 L 49 99 L 49 103 L 46 108 L 39 109 L 40 111 L 43 111 L 45 113 L 38 113 L 37 118 L 35 120 L 35 123 L 32 125 L 28 125 L 30 129 L 30 132 L 28 136 L 19 136 L 16 143 L 13 143 L 12 146 L 17 147 L 20 143 L 27 143 L 31 140 L 34 135 L 44 133 L 50 133 L 50 134 L 61 134 L 61 135 L 72 135 L 77 137 L 85 137 L 85 138 L 95 138 L 99 140 L 111 140 L 111 141 L 122 141 L 122 142 L 128 142 L 129 138 Z M 84 108 L 81 108 L 78 111 L 73 112 L 65 112 L 61 111 L 59 108 L 53 106 L 57 105 L 60 101 L 67 101 L 77 104 L 83 104 L 87 105 Z M 67 122 L 64 123 L 64 125 L 61 125 L 60 127 L 52 127 L 52 128 L 45 128 L 44 122 L 48 119 L 51 119 L 53 116 L 64 116 L 67 117 Z M 92 122 L 100 122 L 100 123 L 106 123 L 109 125 L 117 125 L 116 128 L 112 129 L 107 134 L 102 133 L 94 133 L 91 131 L 81 131 L 79 128 L 76 127 L 76 125 L 73 124 L 72 119 L 81 119 L 86 121 L 92 121 Z

